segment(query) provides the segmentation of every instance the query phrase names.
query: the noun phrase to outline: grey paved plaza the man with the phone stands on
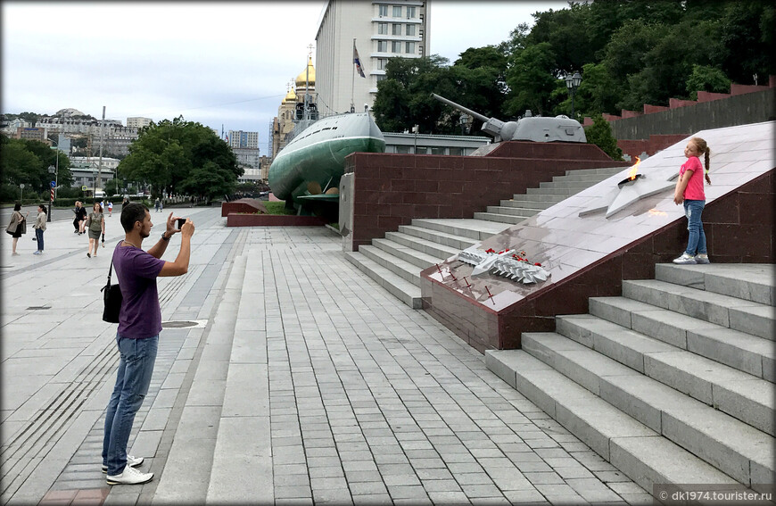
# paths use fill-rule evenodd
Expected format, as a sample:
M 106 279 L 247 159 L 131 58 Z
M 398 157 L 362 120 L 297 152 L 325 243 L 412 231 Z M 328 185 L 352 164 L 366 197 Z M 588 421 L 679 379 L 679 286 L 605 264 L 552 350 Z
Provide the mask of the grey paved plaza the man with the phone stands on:
M 353 267 L 333 230 L 174 211 L 196 232 L 186 276 L 159 279 L 164 330 L 129 444 L 154 473 L 145 485 L 100 471 L 118 351 L 99 290 L 119 212 L 91 259 L 69 218 L 48 224 L 39 256 L 31 228 L 19 256 L 4 234 L 3 504 L 652 502 Z M 152 210 L 144 249 L 167 214 Z

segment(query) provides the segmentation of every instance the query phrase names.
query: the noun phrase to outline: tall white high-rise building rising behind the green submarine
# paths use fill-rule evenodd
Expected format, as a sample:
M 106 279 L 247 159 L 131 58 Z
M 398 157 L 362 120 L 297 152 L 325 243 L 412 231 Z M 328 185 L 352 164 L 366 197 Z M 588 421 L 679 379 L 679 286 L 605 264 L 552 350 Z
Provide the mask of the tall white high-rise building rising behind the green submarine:
M 430 0 L 328 0 L 316 35 L 318 112 L 369 109 L 395 56 L 429 54 Z M 354 72 L 353 42 L 365 77 Z

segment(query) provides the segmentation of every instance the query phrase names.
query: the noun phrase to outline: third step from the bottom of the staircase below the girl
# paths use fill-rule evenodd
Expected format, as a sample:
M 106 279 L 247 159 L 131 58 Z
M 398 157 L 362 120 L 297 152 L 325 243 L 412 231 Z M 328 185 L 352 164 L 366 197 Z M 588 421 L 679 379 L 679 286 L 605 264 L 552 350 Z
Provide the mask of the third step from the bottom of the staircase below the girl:
M 776 389 L 769 381 L 589 314 L 557 316 L 556 331 L 759 430 L 774 434 Z

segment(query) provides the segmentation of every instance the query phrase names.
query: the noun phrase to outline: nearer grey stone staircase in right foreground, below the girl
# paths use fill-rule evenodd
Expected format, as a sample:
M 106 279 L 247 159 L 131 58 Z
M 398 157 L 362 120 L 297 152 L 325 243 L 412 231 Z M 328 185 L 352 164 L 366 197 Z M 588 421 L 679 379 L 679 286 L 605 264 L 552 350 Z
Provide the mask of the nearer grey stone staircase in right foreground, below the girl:
M 772 264 L 656 265 L 489 369 L 634 482 L 774 483 Z

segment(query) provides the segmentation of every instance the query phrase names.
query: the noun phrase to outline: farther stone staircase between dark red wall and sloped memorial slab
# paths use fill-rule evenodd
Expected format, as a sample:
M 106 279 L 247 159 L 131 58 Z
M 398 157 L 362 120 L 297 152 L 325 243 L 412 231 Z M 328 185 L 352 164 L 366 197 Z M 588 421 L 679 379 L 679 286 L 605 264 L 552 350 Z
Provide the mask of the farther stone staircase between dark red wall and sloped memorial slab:
M 420 309 L 421 270 L 622 171 L 622 167 L 566 170 L 565 176 L 528 188 L 525 195 L 475 212 L 473 219 L 415 219 L 345 256 L 403 303 Z

